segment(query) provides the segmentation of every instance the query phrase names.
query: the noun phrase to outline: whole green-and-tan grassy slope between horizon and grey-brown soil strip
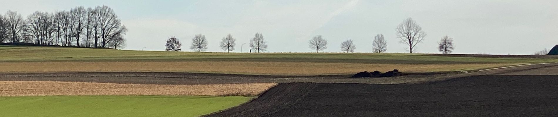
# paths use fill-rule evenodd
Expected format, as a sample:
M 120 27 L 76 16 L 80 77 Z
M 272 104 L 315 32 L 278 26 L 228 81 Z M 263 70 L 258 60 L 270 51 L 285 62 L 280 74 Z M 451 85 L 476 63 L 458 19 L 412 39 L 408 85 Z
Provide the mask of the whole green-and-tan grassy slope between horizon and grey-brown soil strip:
M 429 54 L 372 53 L 196 53 L 21 47 L 0 45 L 0 72 L 193 72 L 317 75 L 364 70 L 450 72 L 527 63 L 541 58 L 438 57 Z

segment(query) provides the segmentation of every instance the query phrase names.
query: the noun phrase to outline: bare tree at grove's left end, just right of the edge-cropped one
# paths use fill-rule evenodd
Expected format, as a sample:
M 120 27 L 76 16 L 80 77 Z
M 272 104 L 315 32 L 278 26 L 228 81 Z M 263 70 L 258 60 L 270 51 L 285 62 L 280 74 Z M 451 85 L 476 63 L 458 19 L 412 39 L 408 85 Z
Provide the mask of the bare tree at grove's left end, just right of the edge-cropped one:
M 6 17 L 7 21 L 10 42 L 20 43 L 22 33 L 25 30 L 25 20 L 21 17 L 21 14 L 14 11 L 8 11 L 4 17 Z

